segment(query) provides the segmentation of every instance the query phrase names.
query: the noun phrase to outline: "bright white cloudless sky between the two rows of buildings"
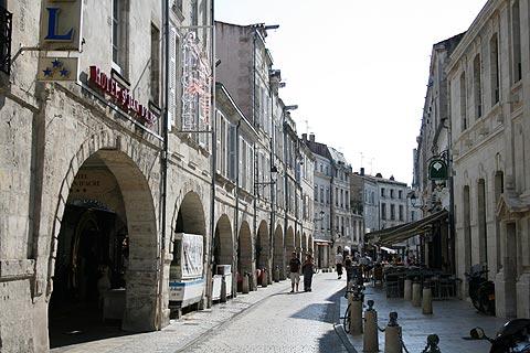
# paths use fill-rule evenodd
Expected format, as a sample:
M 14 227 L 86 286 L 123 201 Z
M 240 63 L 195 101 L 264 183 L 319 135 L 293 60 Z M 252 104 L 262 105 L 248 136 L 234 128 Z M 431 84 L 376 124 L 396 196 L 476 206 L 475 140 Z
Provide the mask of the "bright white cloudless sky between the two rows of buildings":
M 215 0 L 215 19 L 279 24 L 267 47 L 298 135 L 353 171 L 412 183 L 433 44 L 466 31 L 486 0 Z

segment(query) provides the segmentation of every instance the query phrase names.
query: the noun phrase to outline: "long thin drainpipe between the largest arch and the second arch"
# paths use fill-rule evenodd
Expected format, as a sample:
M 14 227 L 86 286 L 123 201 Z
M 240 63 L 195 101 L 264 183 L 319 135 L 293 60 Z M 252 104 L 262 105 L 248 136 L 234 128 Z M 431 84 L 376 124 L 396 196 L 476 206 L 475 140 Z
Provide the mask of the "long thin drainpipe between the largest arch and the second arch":
M 161 239 L 160 239 L 160 268 L 158 271 L 158 320 L 155 323 L 158 330 L 162 328 L 163 314 L 163 266 L 166 261 L 166 208 L 167 208 L 167 189 L 168 189 L 168 124 L 169 124 L 169 0 L 162 0 L 162 21 L 163 21 L 163 120 L 162 120 L 162 154 L 160 160 L 160 174 L 162 176 L 161 184 Z

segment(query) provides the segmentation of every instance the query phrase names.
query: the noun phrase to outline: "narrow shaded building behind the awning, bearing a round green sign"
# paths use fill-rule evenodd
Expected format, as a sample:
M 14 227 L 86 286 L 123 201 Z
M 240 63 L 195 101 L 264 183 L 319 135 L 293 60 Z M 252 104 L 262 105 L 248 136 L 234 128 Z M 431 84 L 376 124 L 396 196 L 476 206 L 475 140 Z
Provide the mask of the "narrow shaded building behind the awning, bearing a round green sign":
M 453 191 L 446 68 L 449 55 L 463 36 L 464 33 L 433 45 L 422 125 L 414 150 L 411 195 L 420 213 L 416 221 L 424 223 L 414 234 L 421 245 L 422 263 L 451 272 L 455 269 L 455 236 L 451 221 Z

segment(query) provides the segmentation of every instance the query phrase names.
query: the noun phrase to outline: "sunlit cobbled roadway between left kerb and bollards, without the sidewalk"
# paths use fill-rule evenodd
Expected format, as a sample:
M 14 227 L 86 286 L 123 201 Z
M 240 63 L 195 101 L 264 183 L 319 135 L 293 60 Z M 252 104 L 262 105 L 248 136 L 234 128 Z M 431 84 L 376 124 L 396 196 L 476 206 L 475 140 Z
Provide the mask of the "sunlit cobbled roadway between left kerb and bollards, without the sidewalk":
M 179 352 L 347 352 L 333 330 L 346 285 L 336 276 L 316 275 L 311 292 L 276 293 Z

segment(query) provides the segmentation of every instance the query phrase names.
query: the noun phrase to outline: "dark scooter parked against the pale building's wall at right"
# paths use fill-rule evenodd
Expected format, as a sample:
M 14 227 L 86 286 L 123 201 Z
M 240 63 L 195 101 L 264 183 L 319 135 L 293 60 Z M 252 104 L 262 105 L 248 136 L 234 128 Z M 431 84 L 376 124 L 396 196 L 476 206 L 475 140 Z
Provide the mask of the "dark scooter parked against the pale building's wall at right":
M 478 311 L 495 315 L 495 284 L 488 280 L 487 274 L 481 265 L 471 266 L 469 274 L 465 274 L 469 282 L 468 295 Z

